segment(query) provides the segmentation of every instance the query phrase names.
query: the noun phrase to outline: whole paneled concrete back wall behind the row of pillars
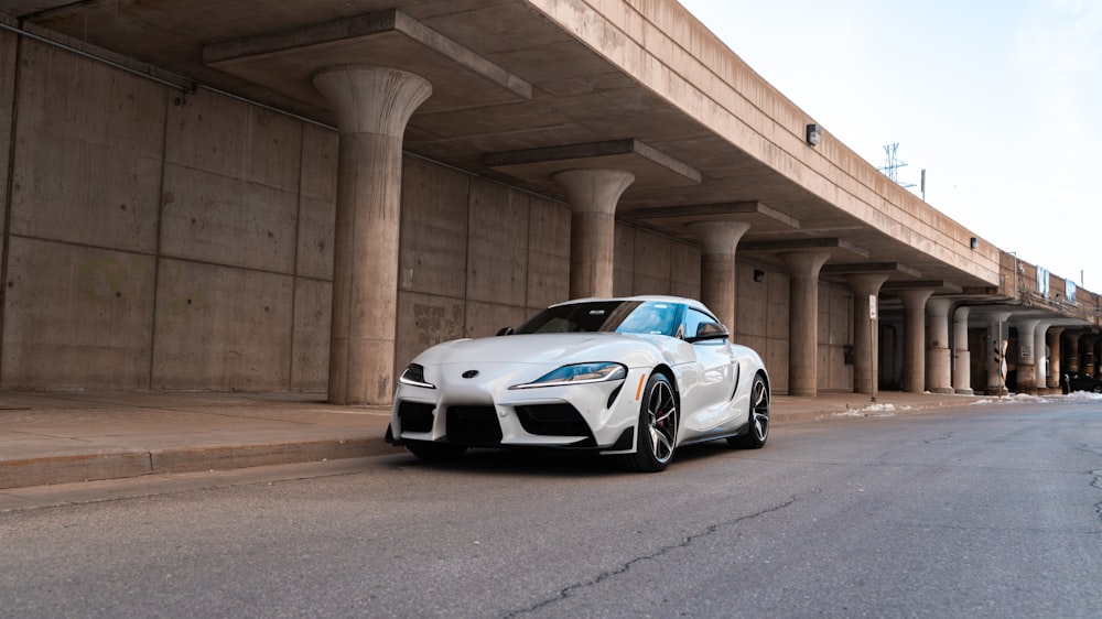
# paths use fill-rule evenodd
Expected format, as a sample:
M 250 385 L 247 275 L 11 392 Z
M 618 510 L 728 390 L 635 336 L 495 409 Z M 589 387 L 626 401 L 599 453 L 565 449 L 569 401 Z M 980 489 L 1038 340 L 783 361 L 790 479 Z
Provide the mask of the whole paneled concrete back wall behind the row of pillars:
M 324 392 L 336 158 L 332 130 L 0 33 L 0 388 Z M 566 297 L 566 205 L 411 155 L 402 192 L 396 371 Z M 615 242 L 616 294 L 699 297 L 698 247 Z M 784 393 L 788 278 L 737 269 L 735 339 Z M 821 389 L 852 384 L 851 304 L 821 286 Z

